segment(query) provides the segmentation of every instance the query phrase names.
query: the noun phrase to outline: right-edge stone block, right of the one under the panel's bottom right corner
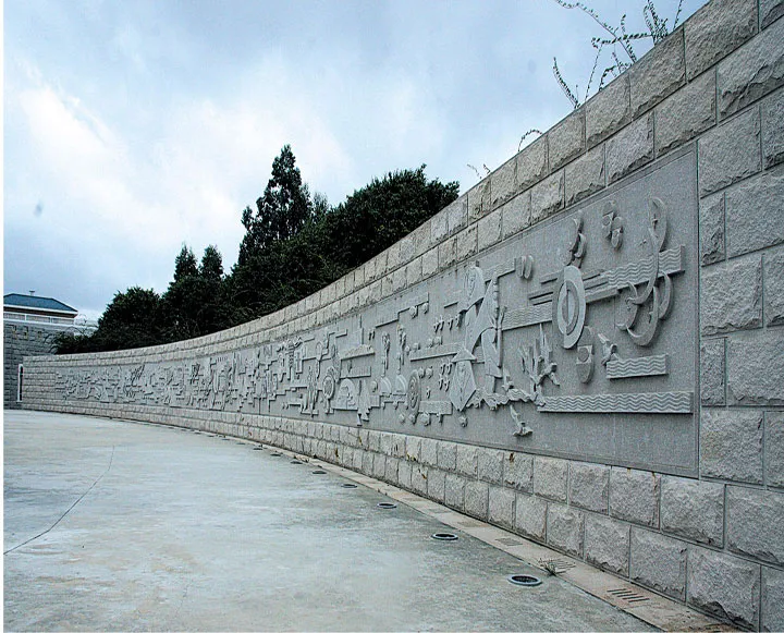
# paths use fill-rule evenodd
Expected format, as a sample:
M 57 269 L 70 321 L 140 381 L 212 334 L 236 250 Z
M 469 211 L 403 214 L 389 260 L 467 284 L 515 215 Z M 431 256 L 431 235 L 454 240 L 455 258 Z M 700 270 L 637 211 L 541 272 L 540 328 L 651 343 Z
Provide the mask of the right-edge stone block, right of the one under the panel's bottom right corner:
M 784 563 L 784 494 L 727 487 L 727 546 L 775 564 Z

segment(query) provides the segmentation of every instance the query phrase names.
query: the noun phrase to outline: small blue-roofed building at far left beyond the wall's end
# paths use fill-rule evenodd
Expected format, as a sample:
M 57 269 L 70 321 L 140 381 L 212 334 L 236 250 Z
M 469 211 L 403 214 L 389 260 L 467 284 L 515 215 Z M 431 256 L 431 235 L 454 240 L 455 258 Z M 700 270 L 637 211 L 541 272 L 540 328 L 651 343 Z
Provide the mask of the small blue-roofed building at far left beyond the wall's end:
M 3 407 L 19 406 L 25 356 L 54 353 L 61 332 L 91 327 L 78 322 L 78 311 L 50 296 L 17 294 L 3 296 Z

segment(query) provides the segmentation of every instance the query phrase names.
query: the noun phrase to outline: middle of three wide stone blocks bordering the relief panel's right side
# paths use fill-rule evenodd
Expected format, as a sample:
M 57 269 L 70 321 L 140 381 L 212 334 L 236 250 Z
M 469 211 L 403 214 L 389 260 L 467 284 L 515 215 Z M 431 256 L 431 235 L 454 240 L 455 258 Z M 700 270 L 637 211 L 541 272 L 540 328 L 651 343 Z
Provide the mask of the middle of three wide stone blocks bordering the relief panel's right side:
M 702 271 L 700 322 L 703 336 L 762 326 L 762 258 L 732 259 Z

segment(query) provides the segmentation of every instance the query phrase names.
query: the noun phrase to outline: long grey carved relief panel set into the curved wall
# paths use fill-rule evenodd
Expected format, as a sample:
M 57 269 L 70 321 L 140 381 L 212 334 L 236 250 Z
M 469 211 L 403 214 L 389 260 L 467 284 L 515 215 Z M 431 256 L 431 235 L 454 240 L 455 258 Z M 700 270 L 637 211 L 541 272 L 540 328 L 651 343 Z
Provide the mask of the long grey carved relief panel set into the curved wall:
M 57 391 L 689 474 L 696 236 L 689 153 L 322 328 L 187 362 L 64 369 Z

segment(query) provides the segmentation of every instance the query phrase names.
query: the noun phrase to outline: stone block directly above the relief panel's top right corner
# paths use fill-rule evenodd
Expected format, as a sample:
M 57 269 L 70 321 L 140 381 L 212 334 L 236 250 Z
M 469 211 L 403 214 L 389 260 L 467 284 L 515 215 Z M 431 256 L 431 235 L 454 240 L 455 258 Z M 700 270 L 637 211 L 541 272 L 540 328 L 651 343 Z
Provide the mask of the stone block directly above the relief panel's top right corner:
M 656 109 L 657 153 L 662 155 L 715 124 L 715 74 L 706 73 Z

